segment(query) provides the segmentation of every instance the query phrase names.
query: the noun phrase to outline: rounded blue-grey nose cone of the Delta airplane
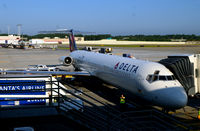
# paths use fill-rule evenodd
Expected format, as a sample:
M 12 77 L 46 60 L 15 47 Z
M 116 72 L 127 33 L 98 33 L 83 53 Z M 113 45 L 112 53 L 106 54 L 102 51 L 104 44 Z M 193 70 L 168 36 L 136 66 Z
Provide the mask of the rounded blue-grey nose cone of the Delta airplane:
M 188 97 L 182 87 L 171 87 L 160 90 L 157 93 L 158 103 L 162 107 L 169 109 L 180 109 L 186 106 Z

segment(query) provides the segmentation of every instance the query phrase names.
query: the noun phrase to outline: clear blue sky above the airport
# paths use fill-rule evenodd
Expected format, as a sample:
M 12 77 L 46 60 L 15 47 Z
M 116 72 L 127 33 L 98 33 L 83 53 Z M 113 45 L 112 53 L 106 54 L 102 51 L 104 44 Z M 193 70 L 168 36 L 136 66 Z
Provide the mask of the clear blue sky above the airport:
M 0 0 L 0 33 L 200 35 L 200 0 Z

